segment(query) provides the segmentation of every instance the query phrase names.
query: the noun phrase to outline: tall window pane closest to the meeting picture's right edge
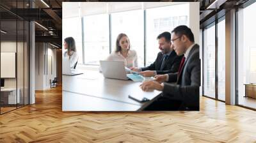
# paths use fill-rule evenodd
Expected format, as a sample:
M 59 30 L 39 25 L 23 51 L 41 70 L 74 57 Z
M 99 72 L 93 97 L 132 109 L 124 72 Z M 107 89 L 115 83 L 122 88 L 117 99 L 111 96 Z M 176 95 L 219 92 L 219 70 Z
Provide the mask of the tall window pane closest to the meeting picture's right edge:
M 204 95 L 215 98 L 215 25 L 204 29 Z

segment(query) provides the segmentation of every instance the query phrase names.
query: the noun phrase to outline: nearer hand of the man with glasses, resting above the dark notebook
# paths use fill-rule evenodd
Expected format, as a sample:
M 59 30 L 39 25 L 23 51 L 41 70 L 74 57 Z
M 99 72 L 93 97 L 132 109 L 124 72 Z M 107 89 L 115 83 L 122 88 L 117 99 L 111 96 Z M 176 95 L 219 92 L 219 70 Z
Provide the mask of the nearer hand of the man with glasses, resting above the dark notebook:
M 163 84 L 159 84 L 156 81 L 143 82 L 140 87 L 143 91 L 153 91 L 154 89 L 157 91 L 163 91 L 164 88 Z

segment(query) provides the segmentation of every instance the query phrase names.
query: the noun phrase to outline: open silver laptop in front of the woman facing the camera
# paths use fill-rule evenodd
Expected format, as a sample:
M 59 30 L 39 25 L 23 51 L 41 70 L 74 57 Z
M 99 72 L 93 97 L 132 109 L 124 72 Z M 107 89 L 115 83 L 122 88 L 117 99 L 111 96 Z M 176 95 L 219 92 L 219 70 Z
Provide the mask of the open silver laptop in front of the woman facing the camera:
M 122 79 L 129 80 L 134 78 L 131 77 L 132 74 L 127 74 L 124 66 L 124 61 L 100 61 L 100 67 L 104 77 L 109 79 Z M 130 77 L 130 78 L 128 78 Z M 141 75 L 137 75 L 136 78 L 143 80 Z

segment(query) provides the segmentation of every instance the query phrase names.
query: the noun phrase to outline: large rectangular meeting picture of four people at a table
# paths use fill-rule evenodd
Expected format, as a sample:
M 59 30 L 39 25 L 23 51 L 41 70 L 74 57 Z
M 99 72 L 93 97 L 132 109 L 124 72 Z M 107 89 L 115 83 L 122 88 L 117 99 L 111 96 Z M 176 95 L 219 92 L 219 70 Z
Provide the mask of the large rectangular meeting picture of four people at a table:
M 63 3 L 63 111 L 199 110 L 198 10 Z

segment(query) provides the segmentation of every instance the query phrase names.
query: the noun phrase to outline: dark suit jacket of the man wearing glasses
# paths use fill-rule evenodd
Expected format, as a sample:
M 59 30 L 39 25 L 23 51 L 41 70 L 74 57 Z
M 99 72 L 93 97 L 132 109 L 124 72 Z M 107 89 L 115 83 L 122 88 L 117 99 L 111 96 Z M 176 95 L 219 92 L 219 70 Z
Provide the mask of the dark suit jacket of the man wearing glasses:
M 200 74 L 199 46 L 196 44 L 190 50 L 180 76 L 178 73 L 168 74 L 169 81 L 164 83 L 163 96 L 181 100 L 181 108 L 199 110 Z

